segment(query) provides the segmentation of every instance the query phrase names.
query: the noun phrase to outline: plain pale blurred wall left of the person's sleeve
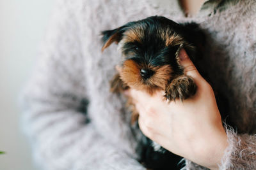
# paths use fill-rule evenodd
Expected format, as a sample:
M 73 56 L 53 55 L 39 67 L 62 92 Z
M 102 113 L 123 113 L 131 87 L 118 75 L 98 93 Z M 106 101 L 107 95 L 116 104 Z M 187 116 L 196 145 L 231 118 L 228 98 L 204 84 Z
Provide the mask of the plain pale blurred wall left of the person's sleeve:
M 40 169 L 33 165 L 22 134 L 19 92 L 28 81 L 51 16 L 52 0 L 0 0 L 0 155 L 1 170 Z

